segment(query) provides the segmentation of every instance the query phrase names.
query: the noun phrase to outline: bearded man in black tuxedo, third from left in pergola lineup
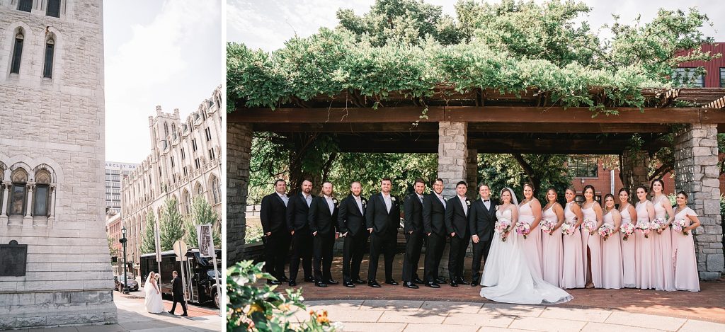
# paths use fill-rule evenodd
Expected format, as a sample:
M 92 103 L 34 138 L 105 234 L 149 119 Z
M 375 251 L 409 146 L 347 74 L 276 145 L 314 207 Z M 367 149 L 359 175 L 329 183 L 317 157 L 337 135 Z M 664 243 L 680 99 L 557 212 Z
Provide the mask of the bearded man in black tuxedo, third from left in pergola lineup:
M 335 239 L 337 222 L 337 199 L 332 197 L 332 183 L 322 184 L 320 196 L 312 199 L 310 204 L 310 233 L 312 233 L 312 268 L 315 271 L 315 285 L 327 287 L 328 283 L 336 285 L 332 278 L 332 249 Z

